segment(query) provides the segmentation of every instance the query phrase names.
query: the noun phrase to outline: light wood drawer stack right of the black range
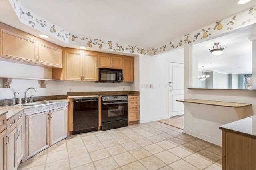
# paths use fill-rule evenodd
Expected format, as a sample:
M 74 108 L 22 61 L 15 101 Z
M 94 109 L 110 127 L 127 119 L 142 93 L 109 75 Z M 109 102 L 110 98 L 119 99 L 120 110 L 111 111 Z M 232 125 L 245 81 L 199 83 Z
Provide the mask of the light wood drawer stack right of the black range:
M 128 121 L 138 121 L 140 119 L 139 95 L 128 96 Z

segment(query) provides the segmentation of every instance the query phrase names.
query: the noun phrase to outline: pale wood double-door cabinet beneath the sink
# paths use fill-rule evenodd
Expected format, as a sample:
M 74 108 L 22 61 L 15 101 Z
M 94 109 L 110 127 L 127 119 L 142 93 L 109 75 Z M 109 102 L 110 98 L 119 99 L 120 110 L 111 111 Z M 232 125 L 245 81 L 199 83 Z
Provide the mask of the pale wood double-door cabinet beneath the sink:
M 26 116 L 26 159 L 67 137 L 67 107 Z

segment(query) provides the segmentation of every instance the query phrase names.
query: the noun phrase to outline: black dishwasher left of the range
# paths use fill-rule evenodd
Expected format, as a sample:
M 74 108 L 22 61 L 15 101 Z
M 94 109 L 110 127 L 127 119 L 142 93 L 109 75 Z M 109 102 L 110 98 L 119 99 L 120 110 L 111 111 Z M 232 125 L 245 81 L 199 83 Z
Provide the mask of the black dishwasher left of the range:
M 97 131 L 99 126 L 99 99 L 73 99 L 73 134 Z

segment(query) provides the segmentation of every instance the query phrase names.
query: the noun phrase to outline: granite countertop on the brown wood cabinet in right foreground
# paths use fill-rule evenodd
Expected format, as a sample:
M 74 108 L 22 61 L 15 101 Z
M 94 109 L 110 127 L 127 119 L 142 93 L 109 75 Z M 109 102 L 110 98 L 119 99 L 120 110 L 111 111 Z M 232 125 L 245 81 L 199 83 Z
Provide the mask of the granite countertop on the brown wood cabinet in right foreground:
M 226 125 L 221 125 L 219 128 L 223 131 L 237 133 L 239 135 L 256 139 L 256 115 L 240 119 Z

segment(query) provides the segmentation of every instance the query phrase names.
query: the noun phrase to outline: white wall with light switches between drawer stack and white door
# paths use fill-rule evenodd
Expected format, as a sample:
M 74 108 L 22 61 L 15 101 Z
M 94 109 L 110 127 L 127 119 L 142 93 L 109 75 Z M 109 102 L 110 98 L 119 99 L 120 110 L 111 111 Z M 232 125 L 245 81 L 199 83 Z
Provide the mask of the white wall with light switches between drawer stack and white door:
M 169 117 L 168 61 L 183 63 L 183 52 L 173 51 L 160 56 L 140 55 L 140 123 Z M 153 84 L 153 88 L 150 88 L 150 84 Z

